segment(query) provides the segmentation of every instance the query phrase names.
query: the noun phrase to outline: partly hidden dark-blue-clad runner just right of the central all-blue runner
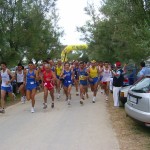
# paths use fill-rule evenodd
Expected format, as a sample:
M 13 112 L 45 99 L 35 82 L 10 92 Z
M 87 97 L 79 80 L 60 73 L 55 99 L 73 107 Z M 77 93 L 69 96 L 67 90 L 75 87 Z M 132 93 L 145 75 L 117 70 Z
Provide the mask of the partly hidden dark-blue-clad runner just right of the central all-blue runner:
M 78 70 L 79 70 L 79 62 L 76 60 L 74 62 L 74 84 L 75 84 L 75 88 L 76 88 L 76 95 L 78 96 L 79 95 L 79 92 L 78 92 L 78 87 L 79 87 L 79 73 L 78 73 Z

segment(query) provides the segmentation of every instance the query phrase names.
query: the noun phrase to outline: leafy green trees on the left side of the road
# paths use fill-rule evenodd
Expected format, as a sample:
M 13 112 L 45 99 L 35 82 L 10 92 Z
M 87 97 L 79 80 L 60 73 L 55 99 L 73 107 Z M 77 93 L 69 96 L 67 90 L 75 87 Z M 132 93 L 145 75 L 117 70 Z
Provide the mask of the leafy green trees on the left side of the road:
M 60 53 L 63 32 L 56 22 L 55 6 L 56 0 L 1 0 L 0 61 L 14 65 L 26 56 L 38 62 L 54 57 L 54 47 Z

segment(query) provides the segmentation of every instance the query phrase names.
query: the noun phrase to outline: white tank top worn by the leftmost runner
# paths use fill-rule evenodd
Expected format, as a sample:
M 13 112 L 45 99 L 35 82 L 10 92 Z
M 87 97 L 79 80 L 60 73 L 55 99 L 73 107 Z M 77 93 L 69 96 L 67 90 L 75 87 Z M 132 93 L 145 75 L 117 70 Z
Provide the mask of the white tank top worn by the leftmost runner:
M 5 70 L 5 72 L 3 72 L 3 70 L 1 70 L 1 78 L 2 78 L 2 84 L 1 86 L 3 87 L 10 87 L 11 84 L 9 83 L 8 85 L 6 85 L 7 81 L 10 81 L 10 76 L 7 73 L 8 69 Z

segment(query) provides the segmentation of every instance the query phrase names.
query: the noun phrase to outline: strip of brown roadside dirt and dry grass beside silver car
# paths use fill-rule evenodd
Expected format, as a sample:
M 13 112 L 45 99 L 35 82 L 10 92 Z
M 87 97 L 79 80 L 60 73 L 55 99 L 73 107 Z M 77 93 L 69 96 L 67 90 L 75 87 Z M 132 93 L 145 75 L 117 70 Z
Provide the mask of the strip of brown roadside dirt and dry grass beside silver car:
M 124 107 L 114 108 L 112 94 L 107 108 L 121 150 L 149 150 L 150 128 L 126 116 Z

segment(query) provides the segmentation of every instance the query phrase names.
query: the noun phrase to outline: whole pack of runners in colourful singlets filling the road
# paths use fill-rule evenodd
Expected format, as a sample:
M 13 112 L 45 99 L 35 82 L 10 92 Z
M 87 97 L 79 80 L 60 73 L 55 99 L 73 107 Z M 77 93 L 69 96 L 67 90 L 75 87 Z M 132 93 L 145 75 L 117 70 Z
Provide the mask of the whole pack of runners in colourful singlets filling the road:
M 16 80 L 18 91 L 21 94 L 21 102 L 31 100 L 31 112 L 35 112 L 35 95 L 37 87 L 41 87 L 44 92 L 43 109 L 47 108 L 47 97 L 50 93 L 54 108 L 54 94 L 60 99 L 60 91 L 63 88 L 67 104 L 71 104 L 71 90 L 75 87 L 76 95 L 80 95 L 80 104 L 84 99 L 89 98 L 88 88 L 93 92 L 92 102 L 95 103 L 98 88 L 104 90 L 106 100 L 109 94 L 109 82 L 112 77 L 111 65 L 108 62 L 96 62 L 95 60 L 85 63 L 79 61 L 65 62 L 57 60 L 44 60 L 40 66 L 33 62 L 28 63 L 25 69 L 22 64 L 18 64 L 14 74 L 7 68 L 5 62 L 1 63 L 1 107 L 0 113 L 5 112 L 5 97 L 8 93 L 11 99 L 15 98 L 12 92 L 11 82 Z M 56 90 L 55 90 L 56 89 Z

